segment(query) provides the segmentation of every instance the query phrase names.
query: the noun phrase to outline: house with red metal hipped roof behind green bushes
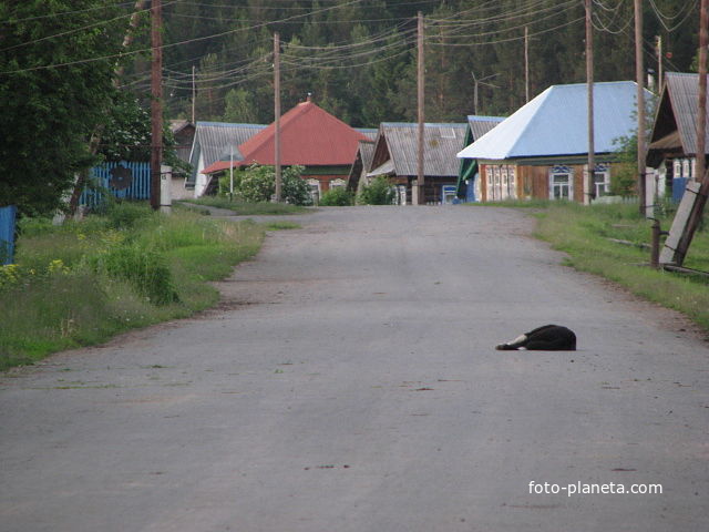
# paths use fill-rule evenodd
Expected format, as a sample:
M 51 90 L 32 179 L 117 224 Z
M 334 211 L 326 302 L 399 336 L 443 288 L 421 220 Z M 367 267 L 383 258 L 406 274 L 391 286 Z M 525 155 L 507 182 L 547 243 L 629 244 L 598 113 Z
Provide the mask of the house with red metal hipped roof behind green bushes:
M 238 145 L 233 161 L 217 161 L 202 173 L 210 181 L 230 167 L 274 165 L 275 136 L 276 124 L 271 123 Z M 322 110 L 308 96 L 280 117 L 280 164 L 305 166 L 302 178 L 308 181 L 317 203 L 331 187 L 346 185 L 358 142 L 368 140 L 367 135 Z

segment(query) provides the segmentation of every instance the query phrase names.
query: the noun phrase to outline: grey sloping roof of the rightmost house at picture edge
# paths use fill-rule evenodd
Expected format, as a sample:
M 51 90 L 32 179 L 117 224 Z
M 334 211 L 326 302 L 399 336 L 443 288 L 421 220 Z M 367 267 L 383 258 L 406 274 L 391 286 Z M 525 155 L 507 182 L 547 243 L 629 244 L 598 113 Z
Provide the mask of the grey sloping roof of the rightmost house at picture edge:
M 687 155 L 696 155 L 699 74 L 667 72 L 664 90 L 669 94 L 682 151 Z M 709 116 L 709 113 L 707 116 Z M 707 123 L 709 124 L 709 120 L 707 120 Z M 705 140 L 705 153 L 707 152 L 709 152 L 709 143 Z

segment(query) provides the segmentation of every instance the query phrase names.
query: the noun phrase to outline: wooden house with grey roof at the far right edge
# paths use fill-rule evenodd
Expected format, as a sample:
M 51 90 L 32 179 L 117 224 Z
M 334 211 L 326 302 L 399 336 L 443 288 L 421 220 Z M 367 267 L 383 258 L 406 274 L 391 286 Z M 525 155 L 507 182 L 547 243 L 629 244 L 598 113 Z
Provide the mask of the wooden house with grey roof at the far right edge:
M 697 116 L 699 74 L 668 72 L 655 115 L 647 165 L 657 170 L 658 180 L 679 201 L 697 164 Z M 709 124 L 709 120 L 707 120 Z M 709 127 L 708 127 L 709 130 Z M 705 160 L 709 140 L 705 140 Z

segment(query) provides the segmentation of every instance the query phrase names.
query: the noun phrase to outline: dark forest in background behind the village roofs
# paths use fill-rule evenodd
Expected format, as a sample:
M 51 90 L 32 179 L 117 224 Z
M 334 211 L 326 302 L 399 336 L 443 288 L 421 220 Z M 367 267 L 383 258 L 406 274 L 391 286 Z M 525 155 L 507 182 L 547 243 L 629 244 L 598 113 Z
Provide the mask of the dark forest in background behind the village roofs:
M 634 2 L 593 6 L 596 81 L 634 80 Z M 658 69 L 659 37 L 665 71 L 691 71 L 698 0 L 644 6 L 646 68 Z M 353 126 L 414 121 L 418 11 L 425 20 L 429 122 L 508 115 L 524 104 L 525 28 L 530 98 L 585 81 L 583 0 L 164 1 L 166 116 L 192 117 L 194 88 L 196 120 L 270 123 L 279 32 L 284 112 L 312 93 Z M 147 32 L 142 39 L 148 43 Z M 124 86 L 147 94 L 148 66 L 147 59 L 135 62 Z

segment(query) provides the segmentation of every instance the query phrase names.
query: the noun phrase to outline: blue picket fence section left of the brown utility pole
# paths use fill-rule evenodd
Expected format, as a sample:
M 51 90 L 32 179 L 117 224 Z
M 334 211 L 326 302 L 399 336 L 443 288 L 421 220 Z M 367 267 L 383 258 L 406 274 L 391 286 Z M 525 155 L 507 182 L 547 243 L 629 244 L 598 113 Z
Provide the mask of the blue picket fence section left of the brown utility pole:
M 150 200 L 151 165 L 150 163 L 103 163 L 91 168 L 93 181 L 120 200 Z M 79 200 L 80 205 L 94 206 L 101 204 L 103 194 L 99 191 L 84 190 Z

